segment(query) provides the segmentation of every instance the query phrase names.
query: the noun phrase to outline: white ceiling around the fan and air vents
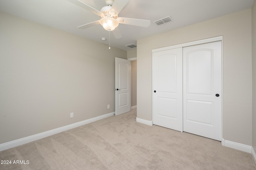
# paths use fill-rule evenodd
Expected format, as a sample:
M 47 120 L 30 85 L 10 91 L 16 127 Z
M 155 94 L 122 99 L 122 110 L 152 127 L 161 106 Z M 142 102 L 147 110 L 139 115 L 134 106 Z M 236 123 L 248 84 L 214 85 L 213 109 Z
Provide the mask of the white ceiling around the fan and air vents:
M 106 6 L 105 0 L 84 2 L 99 11 Z M 141 38 L 250 9 L 253 2 L 254 0 L 130 0 L 118 16 L 150 20 L 151 24 L 148 28 L 119 24 L 122 38 L 115 39 L 111 32 L 110 43 L 120 49 L 134 49 L 125 45 L 136 45 L 136 40 Z M 0 11 L 108 44 L 108 31 L 101 25 L 85 30 L 77 28 L 99 20 L 100 16 L 66 0 L 0 0 Z M 173 21 L 159 26 L 153 23 L 166 16 L 171 16 Z M 107 40 L 102 41 L 102 37 Z

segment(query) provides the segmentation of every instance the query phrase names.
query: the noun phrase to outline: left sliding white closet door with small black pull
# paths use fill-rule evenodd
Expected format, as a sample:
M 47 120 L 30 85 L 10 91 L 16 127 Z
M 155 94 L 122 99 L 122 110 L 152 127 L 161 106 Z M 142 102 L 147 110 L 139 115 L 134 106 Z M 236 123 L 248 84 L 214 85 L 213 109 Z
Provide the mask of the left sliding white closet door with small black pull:
M 182 131 L 182 48 L 152 54 L 153 124 Z

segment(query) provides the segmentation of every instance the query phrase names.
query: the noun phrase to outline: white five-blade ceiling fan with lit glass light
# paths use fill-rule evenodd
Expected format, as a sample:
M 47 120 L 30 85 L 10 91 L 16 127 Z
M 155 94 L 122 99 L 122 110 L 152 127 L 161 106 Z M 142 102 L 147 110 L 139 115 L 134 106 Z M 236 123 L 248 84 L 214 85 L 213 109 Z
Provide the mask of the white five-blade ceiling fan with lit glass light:
M 140 20 L 134 18 L 124 18 L 118 17 L 119 12 L 124 8 L 124 6 L 128 3 L 129 0 L 106 0 L 107 6 L 101 8 L 100 11 L 92 8 L 91 6 L 85 3 L 85 0 L 67 0 L 76 4 L 98 16 L 101 17 L 100 20 L 90 22 L 88 24 L 84 24 L 82 26 L 78 26 L 80 29 L 90 28 L 92 26 L 101 24 L 103 28 L 107 31 L 113 31 L 115 38 L 121 38 L 122 35 L 118 30 L 118 25 L 120 24 L 128 24 L 134 26 L 142 26 L 148 27 L 150 25 L 150 20 Z

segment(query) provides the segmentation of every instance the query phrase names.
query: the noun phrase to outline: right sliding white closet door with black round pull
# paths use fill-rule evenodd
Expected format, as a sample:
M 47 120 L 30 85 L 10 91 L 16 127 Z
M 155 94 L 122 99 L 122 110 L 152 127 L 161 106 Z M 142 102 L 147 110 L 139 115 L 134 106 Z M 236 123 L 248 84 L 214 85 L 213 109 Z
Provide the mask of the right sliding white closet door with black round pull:
M 183 48 L 183 130 L 221 140 L 221 41 Z

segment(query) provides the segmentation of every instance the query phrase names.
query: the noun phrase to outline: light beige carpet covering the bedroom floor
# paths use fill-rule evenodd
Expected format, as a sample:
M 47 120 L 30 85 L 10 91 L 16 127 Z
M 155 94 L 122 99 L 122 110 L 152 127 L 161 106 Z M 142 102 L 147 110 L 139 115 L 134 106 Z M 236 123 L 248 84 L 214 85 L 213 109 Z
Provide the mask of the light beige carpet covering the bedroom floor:
M 136 109 L 0 152 L 1 170 L 256 170 L 219 141 L 136 122 Z

